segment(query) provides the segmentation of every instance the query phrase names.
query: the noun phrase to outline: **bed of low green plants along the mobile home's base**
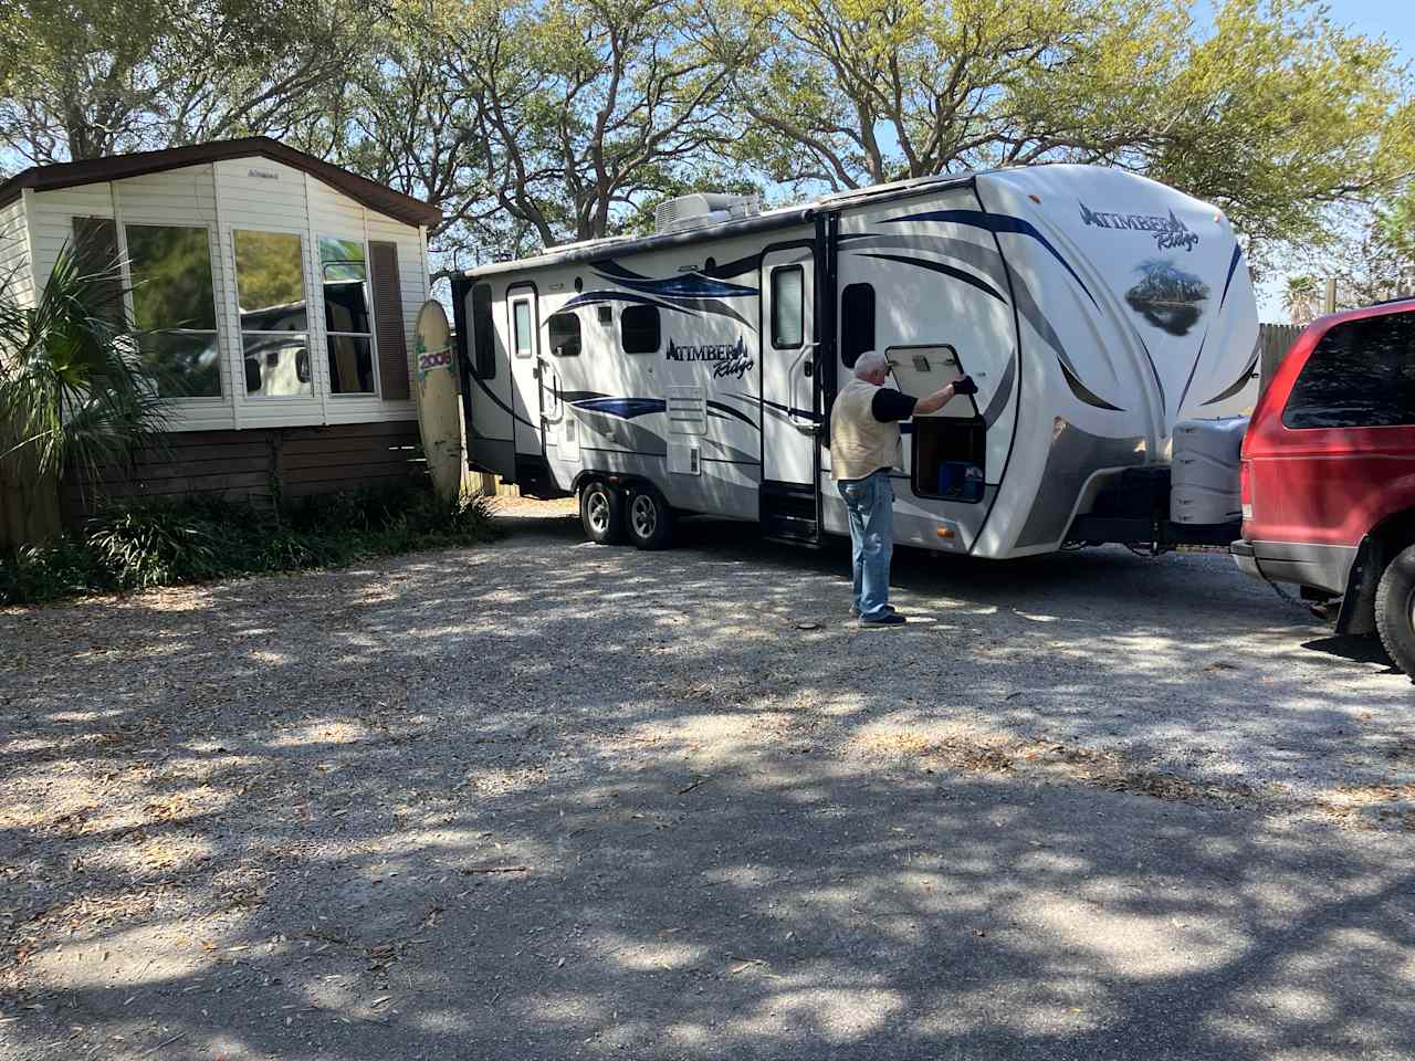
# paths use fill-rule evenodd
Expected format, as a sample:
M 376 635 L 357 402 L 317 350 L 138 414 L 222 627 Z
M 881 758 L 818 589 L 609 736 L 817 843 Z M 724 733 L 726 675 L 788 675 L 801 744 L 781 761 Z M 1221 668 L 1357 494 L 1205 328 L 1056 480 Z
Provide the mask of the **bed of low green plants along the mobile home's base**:
M 0 604 L 340 567 L 491 538 L 491 505 L 439 501 L 420 484 L 314 497 L 270 512 L 183 499 L 99 512 L 58 542 L 0 555 Z

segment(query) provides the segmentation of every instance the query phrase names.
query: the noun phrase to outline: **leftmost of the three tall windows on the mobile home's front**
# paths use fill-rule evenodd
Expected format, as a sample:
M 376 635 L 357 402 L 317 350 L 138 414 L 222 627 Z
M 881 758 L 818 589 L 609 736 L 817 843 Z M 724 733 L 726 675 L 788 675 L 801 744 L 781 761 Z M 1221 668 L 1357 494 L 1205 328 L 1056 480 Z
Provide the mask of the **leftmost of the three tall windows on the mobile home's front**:
M 163 398 L 221 398 L 216 297 L 207 229 L 125 225 L 133 324 Z

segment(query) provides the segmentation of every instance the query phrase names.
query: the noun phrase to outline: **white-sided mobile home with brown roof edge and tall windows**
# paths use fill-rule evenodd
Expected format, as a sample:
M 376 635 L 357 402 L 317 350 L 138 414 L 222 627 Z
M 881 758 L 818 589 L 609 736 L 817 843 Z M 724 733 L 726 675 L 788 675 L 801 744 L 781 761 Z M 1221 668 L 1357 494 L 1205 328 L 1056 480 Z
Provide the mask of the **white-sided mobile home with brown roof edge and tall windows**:
M 409 349 L 440 219 L 266 137 L 38 166 L 0 182 L 0 283 L 33 306 L 62 246 L 120 262 L 168 444 L 106 494 L 291 498 L 422 470 Z M 68 519 L 93 485 L 65 478 Z

